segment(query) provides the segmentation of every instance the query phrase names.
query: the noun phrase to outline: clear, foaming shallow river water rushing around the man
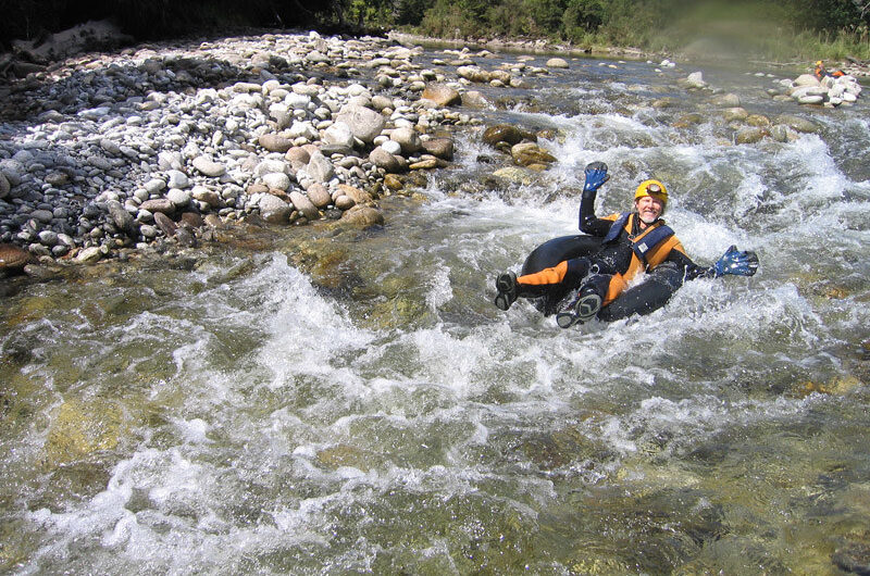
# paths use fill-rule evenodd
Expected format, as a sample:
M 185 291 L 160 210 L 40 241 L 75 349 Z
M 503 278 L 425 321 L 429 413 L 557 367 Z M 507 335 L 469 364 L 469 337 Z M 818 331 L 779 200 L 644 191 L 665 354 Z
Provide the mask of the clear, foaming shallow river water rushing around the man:
M 734 146 L 675 73 L 572 65 L 542 80 L 546 111 L 482 113 L 560 129 L 531 185 L 487 179 L 469 135 L 382 231 L 5 299 L 2 569 L 837 574 L 870 546 L 866 107 L 785 104 L 820 135 Z M 576 228 L 593 160 L 599 212 L 658 176 L 696 261 L 737 243 L 759 274 L 609 326 L 496 310 L 494 275 Z

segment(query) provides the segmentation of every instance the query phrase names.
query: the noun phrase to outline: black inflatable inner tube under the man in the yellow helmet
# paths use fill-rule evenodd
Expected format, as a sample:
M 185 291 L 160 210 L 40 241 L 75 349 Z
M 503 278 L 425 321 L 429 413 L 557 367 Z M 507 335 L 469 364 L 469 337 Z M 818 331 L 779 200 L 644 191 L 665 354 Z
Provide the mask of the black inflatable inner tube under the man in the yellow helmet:
M 523 263 L 522 274 L 533 274 L 552 267 L 572 258 L 593 254 L 601 246 L 601 238 L 595 236 L 561 236 L 547 240 L 535 248 Z M 683 285 L 684 271 L 670 262 L 664 262 L 646 275 L 646 280 L 629 288 L 614 301 L 601 309 L 598 320 L 613 322 L 633 314 L 645 315 L 663 306 L 671 296 Z M 530 300 L 545 316 L 559 311 L 560 304 L 571 296 L 570 288 L 554 286 L 544 296 Z

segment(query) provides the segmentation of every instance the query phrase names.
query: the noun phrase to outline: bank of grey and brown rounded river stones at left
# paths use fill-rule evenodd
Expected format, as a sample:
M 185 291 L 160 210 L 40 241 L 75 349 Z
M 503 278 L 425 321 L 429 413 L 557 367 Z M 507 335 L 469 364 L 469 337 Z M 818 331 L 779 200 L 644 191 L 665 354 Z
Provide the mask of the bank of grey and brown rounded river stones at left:
M 210 226 L 377 224 L 447 165 L 459 92 L 382 38 L 264 34 L 50 64 L 0 95 L 0 267 L 92 262 Z

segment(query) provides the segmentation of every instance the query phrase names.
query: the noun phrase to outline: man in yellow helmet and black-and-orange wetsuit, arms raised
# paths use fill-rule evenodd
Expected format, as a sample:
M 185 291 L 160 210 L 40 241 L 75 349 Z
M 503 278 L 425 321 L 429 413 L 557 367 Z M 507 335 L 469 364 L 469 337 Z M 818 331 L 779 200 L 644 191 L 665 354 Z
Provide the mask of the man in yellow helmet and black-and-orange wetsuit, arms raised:
M 604 238 L 601 248 L 588 256 L 566 260 L 519 278 L 512 272 L 499 274 L 496 278 L 496 306 L 508 310 L 518 297 L 534 298 L 554 285 L 579 288 L 576 298 L 556 315 L 557 324 L 568 328 L 595 317 L 601 306 L 625 290 L 637 273 L 652 271 L 664 262 L 682 268 L 685 279 L 755 274 L 758 268 L 755 253 L 737 252 L 735 247 L 729 248 L 713 266 L 695 264 L 673 230 L 661 220 L 668 203 L 668 190 L 659 180 L 641 183 L 635 190 L 633 212 L 597 217 L 595 197 L 608 179 L 607 165 L 602 162 L 586 166 L 586 183 L 580 202 L 580 229 Z

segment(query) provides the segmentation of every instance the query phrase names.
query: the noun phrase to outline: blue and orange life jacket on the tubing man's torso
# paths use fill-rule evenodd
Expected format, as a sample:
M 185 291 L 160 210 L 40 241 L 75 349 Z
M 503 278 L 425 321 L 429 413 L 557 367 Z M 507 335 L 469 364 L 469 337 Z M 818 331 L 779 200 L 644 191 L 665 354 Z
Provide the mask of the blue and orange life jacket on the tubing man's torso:
M 612 214 L 602 220 L 613 220 L 613 224 L 605 236 L 604 243 L 613 242 L 619 238 L 622 230 L 631 235 L 632 227 L 634 226 L 634 218 L 637 214 L 633 212 L 623 212 L 622 214 Z M 664 224 L 664 221 L 658 220 L 649 225 L 644 231 L 638 234 L 632 240 L 632 261 L 629 264 L 629 270 L 624 274 L 613 275 L 610 286 L 605 298 L 605 304 L 612 302 L 622 293 L 627 287 L 627 283 L 634 278 L 638 272 L 645 270 L 654 270 L 656 266 L 664 262 L 671 250 L 683 251 L 683 246 L 676 239 L 670 226 Z

